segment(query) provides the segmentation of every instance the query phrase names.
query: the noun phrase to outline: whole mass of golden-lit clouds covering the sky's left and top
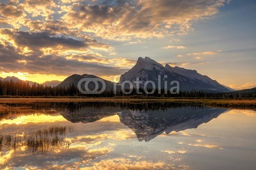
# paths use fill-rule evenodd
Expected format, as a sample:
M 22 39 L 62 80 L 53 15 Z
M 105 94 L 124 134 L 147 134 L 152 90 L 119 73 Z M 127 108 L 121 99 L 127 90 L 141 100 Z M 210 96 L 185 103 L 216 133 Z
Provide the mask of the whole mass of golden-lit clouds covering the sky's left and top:
M 115 42 L 124 41 L 124 48 L 146 43 L 146 38 L 186 34 L 194 20 L 211 17 L 225 3 L 225 0 L 4 1 L 0 3 L 0 72 L 60 76 L 92 73 L 113 77 L 136 63 L 136 59 L 131 59 L 136 56 L 127 57 L 125 53 L 122 55 L 125 58 L 118 56 L 115 47 L 111 47 Z M 173 41 L 178 40 L 173 38 Z M 184 49 L 172 45 L 163 48 Z

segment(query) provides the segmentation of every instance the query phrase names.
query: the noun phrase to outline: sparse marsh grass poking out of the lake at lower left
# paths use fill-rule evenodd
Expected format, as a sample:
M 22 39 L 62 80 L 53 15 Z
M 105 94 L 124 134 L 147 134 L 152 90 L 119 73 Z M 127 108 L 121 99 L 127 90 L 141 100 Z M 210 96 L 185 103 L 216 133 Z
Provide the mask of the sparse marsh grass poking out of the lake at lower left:
M 0 135 L 0 151 L 4 148 L 20 150 L 26 148 L 30 153 L 47 153 L 54 148 L 67 148 L 70 143 L 65 141 L 67 132 L 72 132 L 72 127 L 49 127 L 36 130 L 28 134 Z

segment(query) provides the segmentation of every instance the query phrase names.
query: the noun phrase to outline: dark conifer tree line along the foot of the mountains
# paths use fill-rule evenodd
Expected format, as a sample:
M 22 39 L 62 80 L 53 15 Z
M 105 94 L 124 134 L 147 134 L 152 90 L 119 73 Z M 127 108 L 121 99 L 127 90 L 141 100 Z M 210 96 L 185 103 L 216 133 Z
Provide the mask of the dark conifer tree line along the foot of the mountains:
M 151 91 L 152 89 L 148 89 Z M 170 92 L 164 94 L 164 89 L 161 93 L 158 90 L 155 93 L 148 95 L 145 90 L 140 89 L 140 97 L 180 97 L 180 98 L 255 98 L 255 93 L 241 93 L 241 91 L 234 91 L 230 93 L 207 93 L 204 91 L 180 91 L 179 94 L 171 94 Z M 51 87 L 42 84 L 30 85 L 25 81 L 0 81 L 0 96 L 18 96 L 18 97 L 138 97 L 136 89 L 132 89 L 131 94 L 125 95 L 122 91 L 104 91 L 99 95 L 84 95 L 79 92 L 74 84 L 70 84 L 68 88 L 65 87 Z

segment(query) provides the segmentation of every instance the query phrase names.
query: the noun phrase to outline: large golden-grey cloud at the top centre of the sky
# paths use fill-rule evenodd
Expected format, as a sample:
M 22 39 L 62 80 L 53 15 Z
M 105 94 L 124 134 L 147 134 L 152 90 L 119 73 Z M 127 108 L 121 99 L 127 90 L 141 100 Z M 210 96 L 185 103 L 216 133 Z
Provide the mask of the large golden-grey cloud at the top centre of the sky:
M 74 3 L 62 17 L 70 26 L 104 38 L 163 37 L 185 34 L 191 21 L 218 12 L 226 1 L 104 1 L 102 4 Z

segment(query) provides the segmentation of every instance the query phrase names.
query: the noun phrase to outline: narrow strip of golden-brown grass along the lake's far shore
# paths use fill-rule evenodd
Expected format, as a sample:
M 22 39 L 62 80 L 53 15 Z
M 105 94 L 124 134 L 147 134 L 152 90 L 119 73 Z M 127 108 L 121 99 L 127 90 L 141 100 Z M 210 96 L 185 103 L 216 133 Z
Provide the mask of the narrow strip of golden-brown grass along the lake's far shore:
M 0 104 L 45 102 L 177 102 L 199 103 L 210 107 L 256 109 L 256 99 L 200 99 L 200 98 L 0 98 Z

